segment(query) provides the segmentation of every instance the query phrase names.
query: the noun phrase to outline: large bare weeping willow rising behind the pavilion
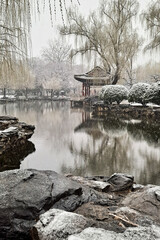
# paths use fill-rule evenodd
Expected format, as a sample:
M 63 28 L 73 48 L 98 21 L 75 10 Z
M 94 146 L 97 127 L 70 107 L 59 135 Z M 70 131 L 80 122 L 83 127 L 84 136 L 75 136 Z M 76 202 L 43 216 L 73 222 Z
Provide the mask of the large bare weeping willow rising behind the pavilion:
M 116 84 L 140 46 L 138 34 L 133 28 L 137 9 L 136 0 L 103 0 L 99 10 L 92 12 L 88 18 L 70 9 L 68 24 L 60 28 L 60 33 L 79 39 L 72 57 L 78 53 L 96 53 L 106 71 L 114 74 L 112 83 Z

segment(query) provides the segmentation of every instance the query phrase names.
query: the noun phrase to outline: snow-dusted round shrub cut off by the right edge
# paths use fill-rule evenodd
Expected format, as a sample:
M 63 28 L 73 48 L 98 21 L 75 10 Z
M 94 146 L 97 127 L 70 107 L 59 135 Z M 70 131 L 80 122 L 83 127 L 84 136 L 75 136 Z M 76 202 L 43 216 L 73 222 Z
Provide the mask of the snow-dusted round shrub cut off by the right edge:
M 144 101 L 160 105 L 160 82 L 150 85 L 144 95 Z

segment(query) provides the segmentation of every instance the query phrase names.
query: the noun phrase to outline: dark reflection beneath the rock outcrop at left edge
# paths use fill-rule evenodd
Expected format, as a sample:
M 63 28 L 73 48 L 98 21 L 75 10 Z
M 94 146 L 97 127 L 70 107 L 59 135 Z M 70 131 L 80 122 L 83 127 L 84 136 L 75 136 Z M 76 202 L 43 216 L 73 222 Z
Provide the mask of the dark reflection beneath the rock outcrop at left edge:
M 35 151 L 32 142 L 16 147 L 0 156 L 0 171 L 20 168 L 21 161 Z

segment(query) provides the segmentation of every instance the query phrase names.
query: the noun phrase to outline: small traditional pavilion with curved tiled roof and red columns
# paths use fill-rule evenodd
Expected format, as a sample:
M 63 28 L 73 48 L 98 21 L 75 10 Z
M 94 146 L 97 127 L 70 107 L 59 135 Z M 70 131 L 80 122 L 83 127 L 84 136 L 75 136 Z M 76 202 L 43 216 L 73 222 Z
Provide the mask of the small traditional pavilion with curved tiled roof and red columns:
M 74 75 L 74 78 L 82 82 L 82 96 L 85 97 L 90 96 L 91 87 L 99 87 L 111 83 L 111 74 L 100 67 L 95 67 L 85 74 Z

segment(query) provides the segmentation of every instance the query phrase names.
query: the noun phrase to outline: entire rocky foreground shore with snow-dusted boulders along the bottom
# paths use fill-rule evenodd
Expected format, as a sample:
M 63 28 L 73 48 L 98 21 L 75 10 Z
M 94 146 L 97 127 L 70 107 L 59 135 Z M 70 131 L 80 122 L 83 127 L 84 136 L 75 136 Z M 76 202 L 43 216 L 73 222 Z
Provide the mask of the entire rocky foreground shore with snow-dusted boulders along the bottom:
M 0 173 L 0 239 L 160 239 L 160 187 L 134 177 Z

